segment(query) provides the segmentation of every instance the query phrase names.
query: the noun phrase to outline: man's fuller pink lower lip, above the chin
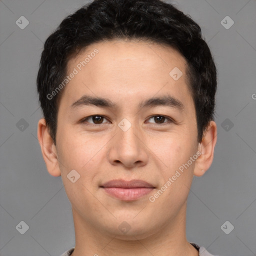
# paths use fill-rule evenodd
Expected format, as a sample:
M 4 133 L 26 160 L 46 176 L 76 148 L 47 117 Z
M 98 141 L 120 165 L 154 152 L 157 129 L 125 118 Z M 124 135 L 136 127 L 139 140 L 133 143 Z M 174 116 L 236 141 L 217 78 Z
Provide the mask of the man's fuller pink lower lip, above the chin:
M 136 188 L 121 188 L 121 187 L 103 187 L 104 190 L 118 199 L 125 201 L 132 201 L 138 199 L 149 192 L 151 192 L 153 187 L 136 187 Z

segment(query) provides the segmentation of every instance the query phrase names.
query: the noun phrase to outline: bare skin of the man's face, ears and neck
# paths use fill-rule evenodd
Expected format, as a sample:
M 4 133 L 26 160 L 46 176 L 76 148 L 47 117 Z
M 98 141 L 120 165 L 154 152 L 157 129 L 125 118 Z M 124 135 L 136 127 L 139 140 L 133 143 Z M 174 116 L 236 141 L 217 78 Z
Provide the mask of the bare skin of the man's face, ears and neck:
M 53 176 L 61 175 L 72 205 L 76 241 L 72 256 L 196 256 L 198 251 L 185 235 L 186 201 L 193 175 L 203 175 L 211 165 L 216 123 L 210 121 L 198 143 L 186 61 L 169 46 L 112 40 L 90 44 L 68 61 L 67 73 L 95 48 L 99 52 L 64 88 L 56 145 L 43 118 L 37 131 L 47 170 Z M 174 67 L 183 73 L 178 80 L 169 75 Z M 108 98 L 117 107 L 70 108 L 84 94 Z M 165 105 L 138 107 L 141 100 L 167 94 L 180 100 L 184 111 Z M 80 122 L 90 115 L 102 118 Z M 157 123 L 151 118 L 154 115 L 174 122 L 166 118 Z M 123 118 L 131 124 L 126 131 L 118 126 Z M 149 196 L 197 151 L 201 155 L 150 202 Z M 74 183 L 67 178 L 72 169 L 80 174 Z M 99 187 L 118 178 L 142 179 L 155 188 L 136 200 L 124 201 Z M 118 228 L 123 221 L 130 226 L 126 233 Z

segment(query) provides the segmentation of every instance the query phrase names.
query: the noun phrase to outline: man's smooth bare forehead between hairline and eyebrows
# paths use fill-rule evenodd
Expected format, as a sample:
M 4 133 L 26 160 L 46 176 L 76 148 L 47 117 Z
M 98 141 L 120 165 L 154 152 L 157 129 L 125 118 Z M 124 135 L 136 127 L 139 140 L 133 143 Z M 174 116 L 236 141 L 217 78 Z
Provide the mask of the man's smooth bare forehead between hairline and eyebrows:
M 170 46 L 137 40 L 92 43 L 68 61 L 67 75 L 74 69 L 63 93 L 69 106 L 88 93 L 120 103 L 124 97 L 141 100 L 166 92 L 180 101 L 190 97 L 186 60 Z

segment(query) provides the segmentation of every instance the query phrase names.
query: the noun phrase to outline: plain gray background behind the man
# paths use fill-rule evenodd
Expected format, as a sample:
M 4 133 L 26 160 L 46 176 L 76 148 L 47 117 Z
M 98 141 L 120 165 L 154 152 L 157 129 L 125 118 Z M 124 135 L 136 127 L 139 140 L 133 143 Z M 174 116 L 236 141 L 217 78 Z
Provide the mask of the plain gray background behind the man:
M 47 172 L 37 141 L 42 115 L 35 79 L 44 40 L 86 2 L 0 1 L 1 256 L 58 256 L 74 246 L 70 202 L 61 177 Z M 213 254 L 256 255 L 256 1 L 174 4 L 201 26 L 218 69 L 218 139 L 211 167 L 194 176 L 187 239 Z M 24 29 L 15 23 L 22 15 L 29 21 Z M 228 29 L 227 15 L 234 21 Z M 24 234 L 15 228 L 22 220 L 29 226 Z M 231 224 L 221 229 L 226 220 L 234 226 L 229 234 L 222 230 Z

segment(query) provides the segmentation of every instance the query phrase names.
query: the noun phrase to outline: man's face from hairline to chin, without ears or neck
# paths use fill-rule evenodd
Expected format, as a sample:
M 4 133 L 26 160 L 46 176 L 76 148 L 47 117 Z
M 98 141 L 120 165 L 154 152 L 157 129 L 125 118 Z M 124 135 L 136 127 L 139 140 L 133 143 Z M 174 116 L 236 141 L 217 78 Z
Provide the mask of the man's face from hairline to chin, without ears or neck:
M 185 63 L 171 47 L 117 40 L 69 60 L 74 75 L 59 104 L 56 152 L 76 221 L 132 239 L 184 214 L 198 156 Z M 104 186 L 114 179 L 150 185 Z

